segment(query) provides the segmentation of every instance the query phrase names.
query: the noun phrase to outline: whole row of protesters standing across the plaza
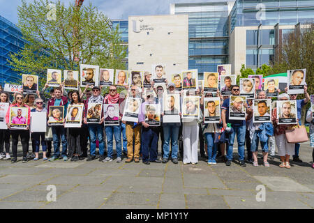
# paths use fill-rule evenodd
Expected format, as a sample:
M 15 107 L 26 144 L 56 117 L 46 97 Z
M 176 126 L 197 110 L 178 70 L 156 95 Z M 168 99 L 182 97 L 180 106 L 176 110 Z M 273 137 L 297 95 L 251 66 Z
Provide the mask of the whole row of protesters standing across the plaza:
M 46 84 L 45 88 L 37 91 L 36 95 L 14 93 L 13 102 L 10 102 L 10 95 L 2 91 L 1 88 L 1 102 L 10 103 L 10 107 L 27 107 L 29 113 L 27 118 L 31 117 L 31 112 L 49 112 L 50 106 L 63 106 L 64 117 L 68 105 L 82 105 L 84 112 L 82 113 L 80 128 L 52 125 L 47 128 L 47 132 L 31 132 L 29 125 L 27 129 L 12 129 L 9 121 L 10 109 L 8 109 L 5 117 L 8 128 L 0 130 L 0 159 L 10 160 L 12 163 L 17 162 L 17 144 L 20 136 L 22 162 L 39 160 L 40 145 L 43 151 L 43 161 L 52 162 L 58 159 L 67 161 L 68 158 L 74 162 L 85 159 L 91 161 L 96 160 L 97 157 L 101 162 L 111 162 L 114 158 L 114 139 L 117 162 L 121 162 L 125 158 L 125 162 L 140 162 L 142 160 L 144 164 L 150 164 L 150 162 L 167 163 L 172 160 L 174 164 L 178 164 L 178 158 L 182 157 L 183 164 L 197 164 L 199 161 L 198 148 L 200 148 L 200 156 L 206 158 L 209 165 L 215 165 L 217 160 L 221 160 L 230 166 L 233 160 L 234 139 L 237 135 L 237 153 L 241 167 L 246 167 L 246 163 L 258 167 L 257 151 L 259 144 L 262 148 L 262 162 L 260 163 L 264 167 L 269 167 L 268 161 L 275 159 L 275 145 L 278 148 L 278 156 L 281 161 L 279 167 L 290 169 L 291 156 L 293 156 L 293 162 L 302 162 L 299 158 L 300 144 L 290 144 L 285 137 L 285 130 L 291 125 L 278 125 L 276 103 L 273 103 L 271 123 L 253 122 L 253 100 L 251 99 L 244 102 L 246 120 L 231 120 L 229 117 L 230 96 L 220 95 L 219 90 L 216 93 L 204 93 L 200 89 L 190 89 L 187 90 L 186 95 L 200 96 L 200 118 L 189 121 L 182 121 L 184 118 L 181 118 L 181 122 L 164 123 L 162 118 L 165 114 L 161 112 L 160 126 L 151 126 L 145 121 L 145 105 L 150 103 L 162 104 L 164 93 L 168 95 L 179 93 L 181 98 L 184 96 L 184 91 L 177 91 L 174 83 L 167 83 L 167 89 L 160 86 L 154 88 L 153 84 L 150 93 L 144 93 L 144 89 L 136 85 L 125 87 L 124 91 L 118 93 L 119 86 L 111 85 L 107 87 L 109 92 L 104 95 L 101 95 L 102 86 L 87 86 L 84 91 L 79 86 L 78 90 L 66 93 L 63 84 L 61 84 L 50 90 L 49 99 L 45 98 L 45 91 L 48 87 Z M 231 86 L 232 95 L 239 95 L 239 90 L 238 85 Z M 278 92 L 280 94 L 276 100 L 297 100 L 297 94 L 288 95 L 281 93 L 280 90 Z M 127 97 L 141 98 L 142 100 L 137 122 L 123 121 Z M 211 97 L 218 97 L 221 100 L 219 123 L 204 123 L 204 116 L 202 116 L 204 98 Z M 267 99 L 267 94 L 265 91 L 258 91 L 255 98 Z M 304 86 L 304 99 L 297 100 L 297 122 L 299 124 L 301 124 L 302 107 L 309 100 L 307 87 Z M 104 125 L 103 114 L 100 123 L 87 123 L 89 103 L 119 104 L 119 125 Z M 181 112 L 179 112 L 180 116 Z M 21 121 L 18 117 L 17 123 Z M 314 137 L 312 117 L 311 109 L 309 109 L 306 114 L 306 121 L 310 123 L 311 139 Z M 30 123 L 30 120 L 27 123 Z M 43 123 L 43 125 L 47 125 L 47 123 Z M 223 131 L 225 131 L 224 139 L 216 139 L 217 135 L 222 136 L 221 132 Z M 12 139 L 11 142 L 10 139 Z M 160 148 L 159 139 L 161 139 Z M 31 141 L 31 150 L 29 149 L 29 141 Z M 245 145 L 247 153 L 245 153 Z M 60 151 L 61 146 L 62 150 Z M 311 143 L 311 147 L 314 147 L 314 144 Z M 98 148 L 99 155 L 96 153 L 96 148 Z M 158 151 L 161 152 L 161 157 L 158 157 Z

